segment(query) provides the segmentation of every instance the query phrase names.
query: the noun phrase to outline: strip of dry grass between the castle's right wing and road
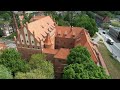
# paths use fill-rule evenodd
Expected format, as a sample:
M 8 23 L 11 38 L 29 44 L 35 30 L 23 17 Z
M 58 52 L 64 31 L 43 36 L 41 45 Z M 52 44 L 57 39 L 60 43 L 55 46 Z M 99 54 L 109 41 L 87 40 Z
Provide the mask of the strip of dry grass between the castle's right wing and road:
M 99 42 L 98 50 L 102 54 L 111 77 L 113 79 L 120 79 L 120 62 L 111 56 L 112 54 L 108 51 L 102 42 Z

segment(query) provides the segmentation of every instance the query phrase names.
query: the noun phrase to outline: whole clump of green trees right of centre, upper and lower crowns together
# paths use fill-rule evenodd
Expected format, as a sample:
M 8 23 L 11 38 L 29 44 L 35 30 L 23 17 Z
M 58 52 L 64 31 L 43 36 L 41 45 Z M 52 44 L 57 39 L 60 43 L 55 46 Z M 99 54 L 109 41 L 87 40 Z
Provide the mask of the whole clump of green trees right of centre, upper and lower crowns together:
M 77 46 L 70 51 L 63 79 L 109 79 L 105 70 L 97 66 L 85 47 Z

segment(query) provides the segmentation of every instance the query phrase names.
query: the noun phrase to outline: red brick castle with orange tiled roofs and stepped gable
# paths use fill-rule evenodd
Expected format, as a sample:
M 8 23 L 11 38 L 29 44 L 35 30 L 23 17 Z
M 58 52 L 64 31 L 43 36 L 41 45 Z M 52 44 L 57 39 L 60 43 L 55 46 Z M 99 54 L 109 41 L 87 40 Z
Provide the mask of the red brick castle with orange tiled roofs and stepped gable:
M 86 29 L 80 27 L 58 26 L 50 16 L 34 16 L 30 23 L 17 29 L 15 42 L 22 57 L 29 59 L 32 54 L 44 53 L 54 65 L 55 77 L 60 78 L 70 49 L 84 46 L 96 64 L 101 64 L 99 52 L 90 40 Z

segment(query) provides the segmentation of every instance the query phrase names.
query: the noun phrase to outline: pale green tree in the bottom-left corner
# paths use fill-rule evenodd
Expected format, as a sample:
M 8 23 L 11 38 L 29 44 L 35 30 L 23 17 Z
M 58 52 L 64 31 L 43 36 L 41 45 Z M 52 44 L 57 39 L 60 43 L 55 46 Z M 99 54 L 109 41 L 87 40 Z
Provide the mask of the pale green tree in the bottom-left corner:
M 8 71 L 8 69 L 3 66 L 0 65 L 0 79 L 12 79 L 12 74 L 10 71 Z

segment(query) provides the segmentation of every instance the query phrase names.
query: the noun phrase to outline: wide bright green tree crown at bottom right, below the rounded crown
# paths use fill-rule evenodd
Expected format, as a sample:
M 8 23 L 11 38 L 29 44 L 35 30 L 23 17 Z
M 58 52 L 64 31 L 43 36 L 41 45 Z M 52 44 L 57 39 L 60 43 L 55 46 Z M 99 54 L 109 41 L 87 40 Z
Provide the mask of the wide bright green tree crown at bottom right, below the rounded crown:
M 89 63 L 70 64 L 64 68 L 63 79 L 109 79 L 102 67 Z

